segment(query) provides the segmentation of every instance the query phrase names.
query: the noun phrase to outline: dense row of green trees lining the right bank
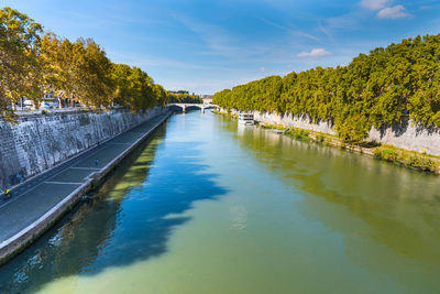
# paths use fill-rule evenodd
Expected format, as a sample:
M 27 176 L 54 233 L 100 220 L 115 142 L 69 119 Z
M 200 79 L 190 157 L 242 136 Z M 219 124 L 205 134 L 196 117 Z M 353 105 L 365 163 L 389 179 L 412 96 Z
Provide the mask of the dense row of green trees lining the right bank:
M 375 48 L 348 66 L 251 81 L 217 92 L 212 102 L 331 121 L 344 144 L 358 144 L 371 127 L 399 122 L 406 113 L 440 127 L 440 34 Z

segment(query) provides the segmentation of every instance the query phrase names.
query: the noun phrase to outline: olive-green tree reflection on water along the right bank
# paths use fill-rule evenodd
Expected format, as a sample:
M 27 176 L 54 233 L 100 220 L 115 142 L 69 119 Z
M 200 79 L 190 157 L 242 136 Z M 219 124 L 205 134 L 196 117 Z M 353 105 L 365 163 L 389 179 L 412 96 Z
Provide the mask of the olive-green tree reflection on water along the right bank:
M 355 260 L 370 260 L 367 266 L 381 264 L 396 273 L 405 259 L 440 269 L 438 178 L 261 128 L 238 129 L 230 119 L 219 119 L 241 148 L 306 195 L 305 211 L 343 233 L 346 251 Z M 359 246 L 363 238 L 375 247 Z M 380 246 L 393 258 L 378 260 Z M 407 273 L 400 274 L 405 280 Z

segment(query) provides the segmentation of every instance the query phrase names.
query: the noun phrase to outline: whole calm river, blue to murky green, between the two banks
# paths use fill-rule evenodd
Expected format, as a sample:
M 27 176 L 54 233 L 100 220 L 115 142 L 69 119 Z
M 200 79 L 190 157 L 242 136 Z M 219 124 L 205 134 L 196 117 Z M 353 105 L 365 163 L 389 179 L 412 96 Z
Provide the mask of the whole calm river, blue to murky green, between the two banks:
M 0 269 L 0 293 L 438 293 L 440 179 L 176 115 Z

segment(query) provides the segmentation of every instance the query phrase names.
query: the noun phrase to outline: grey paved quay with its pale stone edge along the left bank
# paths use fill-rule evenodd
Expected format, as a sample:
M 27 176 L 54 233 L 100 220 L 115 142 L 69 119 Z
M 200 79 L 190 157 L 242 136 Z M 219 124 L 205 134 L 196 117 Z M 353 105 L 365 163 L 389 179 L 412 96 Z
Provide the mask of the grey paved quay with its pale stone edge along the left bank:
M 157 115 L 14 187 L 12 198 L 0 205 L 0 263 L 51 228 L 169 116 L 170 112 Z

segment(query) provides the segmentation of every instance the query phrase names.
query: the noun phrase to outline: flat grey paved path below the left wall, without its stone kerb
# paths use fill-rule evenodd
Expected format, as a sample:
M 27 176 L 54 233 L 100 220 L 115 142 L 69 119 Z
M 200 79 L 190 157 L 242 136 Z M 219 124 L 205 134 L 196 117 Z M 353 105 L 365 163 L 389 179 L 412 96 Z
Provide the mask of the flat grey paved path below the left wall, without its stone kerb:
M 0 243 L 51 210 L 85 183 L 92 173 L 99 172 L 148 132 L 164 116 L 150 119 L 52 171 L 23 183 L 13 190 L 10 199 L 6 199 L 4 196 L 0 198 Z

